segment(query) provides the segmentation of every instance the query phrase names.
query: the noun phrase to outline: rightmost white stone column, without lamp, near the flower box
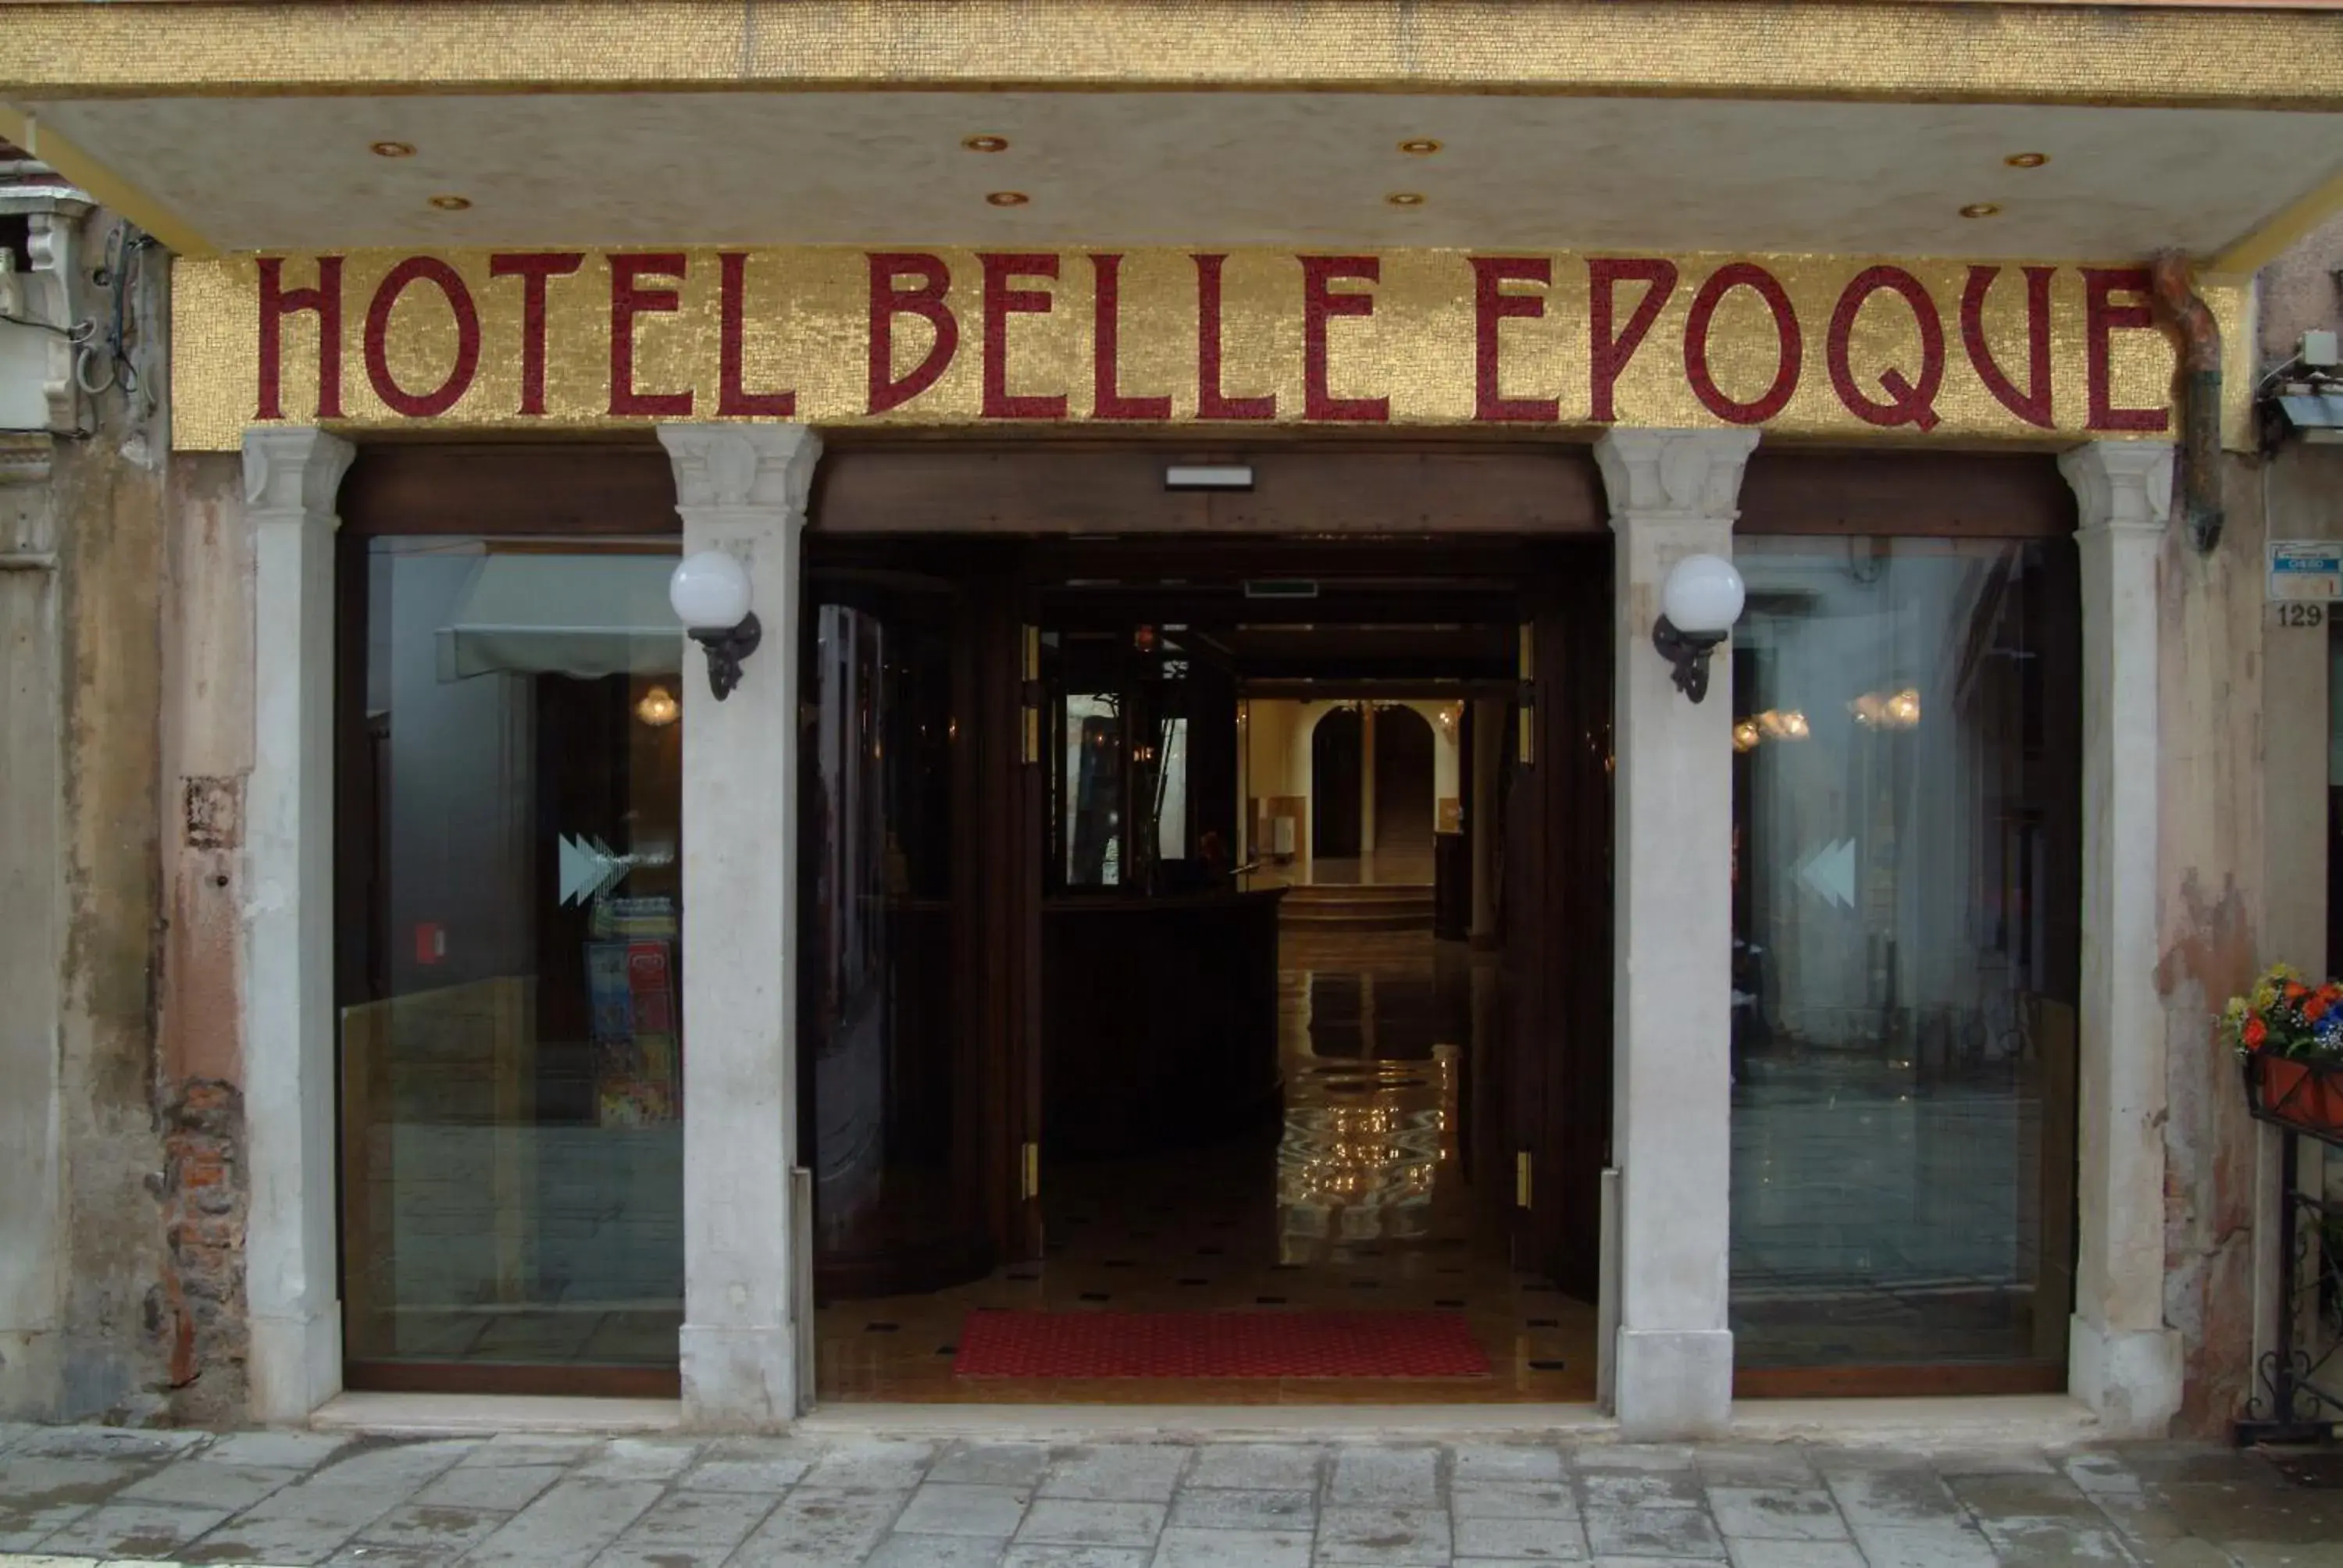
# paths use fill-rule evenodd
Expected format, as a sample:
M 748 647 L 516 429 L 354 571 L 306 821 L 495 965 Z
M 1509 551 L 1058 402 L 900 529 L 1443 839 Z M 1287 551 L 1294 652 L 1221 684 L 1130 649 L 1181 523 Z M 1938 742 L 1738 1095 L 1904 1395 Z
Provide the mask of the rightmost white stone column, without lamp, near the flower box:
M 2172 448 L 2059 457 L 2083 565 L 2083 991 L 2078 1249 L 2069 1388 L 2111 1437 L 2163 1437 L 2181 1406 L 2165 1327 L 2165 1013 L 2156 989 L 2158 560 Z

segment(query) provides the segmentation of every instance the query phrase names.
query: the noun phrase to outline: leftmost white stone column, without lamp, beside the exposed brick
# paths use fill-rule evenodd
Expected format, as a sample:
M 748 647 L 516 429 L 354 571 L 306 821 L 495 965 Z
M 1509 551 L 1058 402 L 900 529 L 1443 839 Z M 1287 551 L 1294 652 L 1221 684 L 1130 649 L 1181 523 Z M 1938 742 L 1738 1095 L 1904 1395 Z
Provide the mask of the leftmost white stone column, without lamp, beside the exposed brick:
M 342 1390 L 335 1268 L 333 537 L 356 452 L 319 429 L 244 431 L 253 527 L 253 776 L 246 790 L 244 1263 L 255 1420 Z

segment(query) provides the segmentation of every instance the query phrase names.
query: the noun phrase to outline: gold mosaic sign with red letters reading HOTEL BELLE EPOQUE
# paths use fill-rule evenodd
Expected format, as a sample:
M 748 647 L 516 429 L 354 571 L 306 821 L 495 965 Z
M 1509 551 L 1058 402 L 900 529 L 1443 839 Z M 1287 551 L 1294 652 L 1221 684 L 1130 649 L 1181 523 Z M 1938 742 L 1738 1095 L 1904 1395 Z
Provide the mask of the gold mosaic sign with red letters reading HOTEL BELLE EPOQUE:
M 2139 267 L 1385 251 L 368 251 L 183 260 L 176 441 L 607 429 L 1753 424 L 2163 436 Z M 2231 342 L 2245 291 L 2207 288 Z

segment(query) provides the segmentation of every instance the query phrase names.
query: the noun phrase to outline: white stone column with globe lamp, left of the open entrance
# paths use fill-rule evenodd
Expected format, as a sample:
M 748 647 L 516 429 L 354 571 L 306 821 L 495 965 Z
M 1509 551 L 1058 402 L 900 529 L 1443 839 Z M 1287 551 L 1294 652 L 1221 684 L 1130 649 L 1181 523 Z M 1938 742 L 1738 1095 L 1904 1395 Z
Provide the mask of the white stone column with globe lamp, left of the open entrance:
M 799 1413 L 797 1165 L 799 532 L 822 438 L 799 424 L 663 424 L 684 553 L 747 567 L 761 640 L 717 701 L 684 649 L 684 1423 Z

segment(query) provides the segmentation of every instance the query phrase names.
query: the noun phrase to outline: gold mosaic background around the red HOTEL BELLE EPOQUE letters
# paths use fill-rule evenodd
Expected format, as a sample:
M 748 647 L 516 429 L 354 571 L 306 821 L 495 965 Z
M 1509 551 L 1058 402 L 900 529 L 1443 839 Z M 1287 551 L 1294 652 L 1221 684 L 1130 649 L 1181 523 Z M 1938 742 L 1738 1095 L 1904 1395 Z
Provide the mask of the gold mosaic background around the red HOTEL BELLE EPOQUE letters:
M 869 415 L 869 281 L 865 251 L 764 248 L 747 263 L 745 382 L 750 391 L 794 389 L 797 417 L 829 427 L 970 427 L 986 424 L 982 408 L 982 267 L 970 251 L 935 251 L 951 267 L 951 307 L 961 347 L 944 377 L 886 415 Z M 375 286 L 405 251 L 351 253 L 342 281 L 342 405 L 337 429 L 602 429 L 642 424 L 609 415 L 609 265 L 588 253 L 586 267 L 555 279 L 548 291 L 546 417 L 518 415 L 520 403 L 520 281 L 490 279 L 485 251 L 440 253 L 469 284 L 480 312 L 480 368 L 466 396 L 438 420 L 389 413 L 368 384 L 363 323 Z M 717 281 L 715 251 L 686 251 L 689 281 L 682 309 L 642 316 L 635 330 L 637 391 L 696 391 L 694 417 L 717 408 Z M 1502 333 L 1504 396 L 1558 396 L 1563 424 L 1589 422 L 1589 286 L 1586 260 L 1556 255 L 1546 314 L 1509 319 Z M 1729 260 L 1755 260 L 1781 279 L 1797 307 L 1804 356 L 1797 394 L 1767 422 L 1783 436 L 1919 438 L 1914 429 L 1879 429 L 1851 415 L 1832 389 L 1825 340 L 1846 281 L 1870 265 L 1863 258 L 1811 255 L 1689 255 L 1675 295 L 1617 382 L 1619 424 L 1722 424 L 1685 380 L 1685 316 L 1699 284 Z M 1382 281 L 1373 286 L 1375 314 L 1328 323 L 1333 396 L 1387 396 L 1394 427 L 1474 424 L 1474 272 L 1460 251 L 1382 251 Z M 1959 300 L 1966 263 L 1898 263 L 1928 288 L 1945 323 L 1945 382 L 1935 398 L 1935 441 L 2045 441 L 2052 431 L 2008 413 L 1977 380 L 1961 347 Z M 316 281 L 316 260 L 288 258 L 288 288 Z M 658 279 L 647 279 L 658 284 Z M 1024 281 L 1026 288 L 1050 288 Z M 1364 284 L 1336 284 L 1338 293 Z M 1518 293 L 1521 286 L 1514 286 Z M 1174 422 L 1195 422 L 1197 408 L 1197 281 L 1186 251 L 1129 251 L 1122 263 L 1120 389 L 1125 396 L 1172 398 Z M 1617 288 L 1614 323 L 1624 326 L 1642 284 Z M 2231 345 L 2242 342 L 2245 291 L 2207 286 L 2207 300 Z M 1085 253 L 1061 253 L 1054 309 L 1007 319 L 1007 389 L 1064 391 L 1068 420 L 1092 408 L 1092 265 Z M 1996 361 L 2027 384 L 2024 279 L 2003 267 L 1987 309 Z M 928 347 L 928 326 L 900 316 L 897 375 Z M 180 260 L 173 272 L 176 445 L 232 450 L 258 410 L 258 272 L 253 258 Z M 455 323 L 429 284 L 412 286 L 391 314 L 389 366 L 408 391 L 436 387 L 455 359 Z M 2233 356 L 2235 359 L 2235 356 Z M 284 408 L 309 422 L 316 408 L 316 316 L 295 314 L 284 326 Z M 1710 368 L 1734 398 L 1757 398 L 1774 380 L 1776 335 L 1760 300 L 1736 288 L 1715 314 Z M 2118 408 L 2165 408 L 2174 354 L 2158 330 L 2118 330 L 2111 389 Z M 1919 370 L 1912 312 L 1877 293 L 1851 340 L 1858 387 L 1879 396 L 1879 375 Z M 2235 377 L 2231 377 L 2235 382 Z M 2085 434 L 2085 316 L 2083 277 L 2059 267 L 2052 288 L 2052 415 L 2057 434 Z M 1237 251 L 1225 267 L 1223 389 L 1230 396 L 1277 394 L 1277 424 L 1303 422 L 1303 277 L 1291 251 Z M 2242 391 L 2242 384 L 2231 387 Z M 2235 408 L 2231 410 L 2235 415 Z M 1509 427 L 1525 429 L 1525 427 Z

